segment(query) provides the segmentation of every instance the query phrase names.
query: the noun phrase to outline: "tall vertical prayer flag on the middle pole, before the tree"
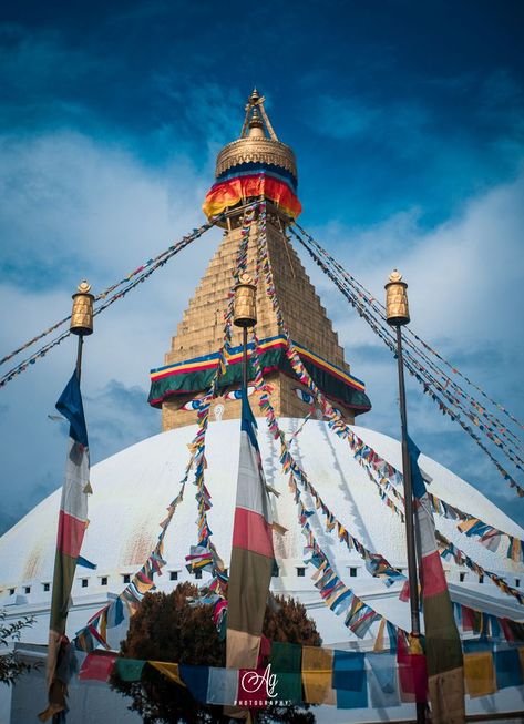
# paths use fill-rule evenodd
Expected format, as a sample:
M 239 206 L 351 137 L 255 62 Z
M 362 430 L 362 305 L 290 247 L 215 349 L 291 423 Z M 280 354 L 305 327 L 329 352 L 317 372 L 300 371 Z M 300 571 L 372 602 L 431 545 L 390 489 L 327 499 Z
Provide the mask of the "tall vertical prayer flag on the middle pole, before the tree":
M 246 391 L 227 606 L 227 667 L 256 669 L 274 565 L 273 517 Z

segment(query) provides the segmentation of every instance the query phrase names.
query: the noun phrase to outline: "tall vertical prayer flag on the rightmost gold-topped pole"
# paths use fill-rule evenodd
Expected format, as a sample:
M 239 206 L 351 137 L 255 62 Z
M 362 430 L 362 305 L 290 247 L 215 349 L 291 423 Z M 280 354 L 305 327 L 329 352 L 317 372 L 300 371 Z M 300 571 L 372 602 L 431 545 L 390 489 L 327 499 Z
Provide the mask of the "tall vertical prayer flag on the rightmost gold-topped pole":
M 420 545 L 420 583 L 424 611 L 425 656 L 433 724 L 465 722 L 462 646 L 453 615 L 431 501 L 418 459 L 420 450 L 408 438 Z

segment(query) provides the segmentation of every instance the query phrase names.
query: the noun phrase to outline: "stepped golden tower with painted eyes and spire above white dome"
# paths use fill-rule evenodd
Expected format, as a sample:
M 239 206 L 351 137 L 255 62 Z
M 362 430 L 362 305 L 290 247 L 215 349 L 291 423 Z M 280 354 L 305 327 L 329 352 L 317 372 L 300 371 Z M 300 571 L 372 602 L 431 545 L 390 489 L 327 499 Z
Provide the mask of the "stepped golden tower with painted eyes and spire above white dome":
M 198 398 L 207 390 L 209 374 L 214 366 L 216 368 L 217 353 L 223 345 L 224 313 L 246 206 L 261 196 L 267 205 L 267 252 L 282 317 L 311 376 L 332 405 L 352 422 L 356 415 L 369 410 L 371 405 L 363 383 L 350 374 L 337 333 L 287 237 L 287 226 L 301 211 L 295 154 L 277 139 L 264 108 L 264 98 L 256 90 L 246 105 L 240 137 L 220 151 L 215 175 L 216 183 L 203 208 L 208 217 L 220 215 L 224 238 L 178 324 L 164 366 L 151 374 L 150 404 L 162 407 L 163 429 L 195 421 Z M 250 235 L 256 238 L 256 218 Z M 251 274 L 255 246 L 250 243 L 248 247 L 247 268 Z M 265 350 L 261 361 L 265 379 L 273 387 L 275 411 L 278 416 L 295 418 L 314 415 L 312 399 L 286 365 L 281 330 L 263 287 L 259 284 L 257 289 L 257 335 Z M 242 345 L 237 328 L 234 328 L 232 344 L 234 348 Z M 232 363 L 235 361 L 234 356 Z M 239 369 L 226 381 L 228 384 L 220 387 L 222 397 L 214 402 L 212 419 L 213 415 L 217 419 L 239 417 L 240 404 L 236 395 Z M 249 392 L 256 397 L 253 389 Z M 257 414 L 254 401 L 251 399 L 251 407 Z

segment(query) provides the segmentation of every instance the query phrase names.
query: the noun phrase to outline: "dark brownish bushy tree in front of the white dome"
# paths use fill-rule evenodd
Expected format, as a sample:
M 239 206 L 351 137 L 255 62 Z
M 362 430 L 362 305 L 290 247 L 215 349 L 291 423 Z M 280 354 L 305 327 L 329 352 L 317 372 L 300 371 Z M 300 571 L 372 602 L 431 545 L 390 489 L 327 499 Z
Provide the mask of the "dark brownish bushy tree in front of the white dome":
M 127 659 L 175 662 L 203 666 L 225 666 L 226 645 L 219 640 L 213 622 L 213 606 L 191 605 L 198 590 L 181 583 L 169 594 L 148 593 L 131 619 L 127 638 L 122 642 L 121 655 Z M 319 646 L 320 635 L 315 622 L 306 615 L 305 606 L 294 599 L 276 596 L 275 605 L 266 609 L 264 635 L 270 641 Z M 131 696 L 131 710 L 138 712 L 144 724 L 163 722 L 175 724 L 218 724 L 228 722 L 222 707 L 196 702 L 189 692 L 171 682 L 152 666 L 145 666 L 141 682 L 124 682 L 114 672 L 111 685 Z M 298 706 L 269 706 L 257 714 L 257 724 L 284 722 L 314 724 L 311 712 Z

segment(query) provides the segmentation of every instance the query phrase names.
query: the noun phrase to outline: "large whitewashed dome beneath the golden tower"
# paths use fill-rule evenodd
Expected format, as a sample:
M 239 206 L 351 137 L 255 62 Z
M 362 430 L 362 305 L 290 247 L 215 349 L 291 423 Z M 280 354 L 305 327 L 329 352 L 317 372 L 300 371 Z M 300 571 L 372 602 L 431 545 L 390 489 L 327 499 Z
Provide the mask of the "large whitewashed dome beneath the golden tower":
M 304 422 L 282 419 L 281 427 L 292 432 Z M 279 574 L 273 579 L 273 590 L 299 598 L 316 620 L 326 644 L 347 646 L 356 641 L 343 626 L 343 616 L 327 609 L 305 570 L 304 544 L 297 519 L 297 508 L 281 472 L 278 449 L 270 438 L 264 419 L 258 420 L 259 445 L 267 481 L 280 493 L 275 500 L 276 520 L 287 529 L 275 534 L 275 550 Z M 401 468 L 401 451 L 397 440 L 379 432 L 357 427 L 353 431 L 391 465 Z M 96 564 L 96 570 L 76 569 L 72 590 L 73 609 L 68 620 L 68 632 L 75 633 L 89 618 L 90 601 L 119 594 L 127 579 L 135 573 L 153 550 L 160 533 L 158 523 L 166 508 L 179 490 L 179 481 L 188 461 L 187 445 L 196 431 L 188 426 L 162 432 L 143 440 L 99 462 L 91 470 L 93 494 L 89 502 L 90 524 L 82 555 Z M 229 560 L 233 516 L 237 486 L 239 421 L 220 420 L 209 424 L 206 438 L 206 486 L 213 508 L 208 522 L 213 542 L 224 559 Z M 294 442 L 294 453 L 328 508 L 363 545 L 380 552 L 390 563 L 405 572 L 404 527 L 380 499 L 376 486 L 355 460 L 347 441 L 331 432 L 326 422 L 309 420 Z M 421 456 L 421 468 L 432 479 L 429 489 L 446 502 L 479 517 L 483 521 L 518 538 L 524 531 L 471 485 L 434 460 Z M 194 580 L 186 571 L 185 555 L 197 542 L 196 502 L 192 479 L 186 486 L 182 504 L 175 512 L 165 537 L 164 574 L 157 578 L 160 590 L 171 590 L 181 580 Z M 304 498 L 308 502 L 307 497 Z M 17 603 L 24 610 L 41 613 L 42 625 L 31 631 L 31 640 L 47 640 L 45 613 L 49 611 L 49 584 L 52 581 L 56 520 L 60 490 L 38 504 L 19 523 L 0 538 L 1 603 Z M 314 509 L 314 506 L 310 506 Z M 518 568 L 515 563 L 492 553 L 477 539 L 456 530 L 456 522 L 435 516 L 439 530 L 465 551 L 483 568 L 506 577 L 515 584 Z M 373 579 L 363 560 L 338 542 L 335 533 L 323 527 L 323 517 L 310 519 L 316 537 L 346 585 L 363 598 L 379 613 L 393 623 L 408 628 L 409 608 L 399 601 L 399 584 L 386 588 Z M 454 600 L 476 608 L 479 596 L 483 608 L 496 615 L 521 618 L 514 599 L 502 595 L 486 580 L 465 568 L 444 564 Z M 522 567 L 520 567 L 522 569 Z M 465 572 L 463 583 L 459 572 Z M 208 574 L 203 573 L 204 583 Z

